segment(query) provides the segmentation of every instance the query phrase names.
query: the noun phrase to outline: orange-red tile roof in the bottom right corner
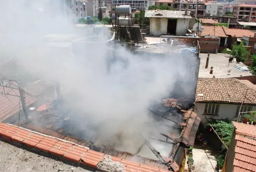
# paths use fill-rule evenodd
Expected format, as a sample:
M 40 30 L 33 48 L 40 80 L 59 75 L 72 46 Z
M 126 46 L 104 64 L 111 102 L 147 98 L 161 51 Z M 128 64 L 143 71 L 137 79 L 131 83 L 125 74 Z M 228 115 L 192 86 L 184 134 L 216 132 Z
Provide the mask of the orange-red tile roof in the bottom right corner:
M 233 122 L 236 128 L 236 146 L 233 172 L 256 171 L 256 126 Z M 239 134 L 237 134 L 239 133 Z M 247 135 L 254 134 L 254 138 Z

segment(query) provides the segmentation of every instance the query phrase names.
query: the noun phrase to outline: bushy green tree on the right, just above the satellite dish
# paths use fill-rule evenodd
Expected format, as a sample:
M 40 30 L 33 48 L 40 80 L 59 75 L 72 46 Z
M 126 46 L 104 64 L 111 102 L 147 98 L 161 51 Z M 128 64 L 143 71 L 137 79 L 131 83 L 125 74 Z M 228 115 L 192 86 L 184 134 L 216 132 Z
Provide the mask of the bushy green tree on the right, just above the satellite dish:
M 244 46 L 244 42 L 240 42 L 240 45 L 237 45 L 236 43 L 233 44 L 231 55 L 235 58 L 240 58 L 242 62 L 245 62 L 247 60 L 248 56 L 247 48 Z

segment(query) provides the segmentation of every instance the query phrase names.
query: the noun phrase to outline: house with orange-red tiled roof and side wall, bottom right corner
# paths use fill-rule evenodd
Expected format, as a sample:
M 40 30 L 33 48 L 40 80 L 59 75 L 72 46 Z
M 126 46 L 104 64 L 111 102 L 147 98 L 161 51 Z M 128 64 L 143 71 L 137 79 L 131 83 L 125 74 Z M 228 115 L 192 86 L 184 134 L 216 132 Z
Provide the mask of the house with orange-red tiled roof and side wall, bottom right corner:
M 232 122 L 234 132 L 222 172 L 256 171 L 256 126 Z

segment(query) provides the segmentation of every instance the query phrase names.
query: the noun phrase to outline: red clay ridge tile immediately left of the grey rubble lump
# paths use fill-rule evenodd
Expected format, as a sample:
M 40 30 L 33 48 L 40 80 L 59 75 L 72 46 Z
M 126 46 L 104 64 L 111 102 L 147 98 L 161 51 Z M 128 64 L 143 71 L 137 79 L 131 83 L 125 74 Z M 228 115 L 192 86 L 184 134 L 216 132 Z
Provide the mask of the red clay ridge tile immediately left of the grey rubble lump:
M 103 159 L 103 156 L 104 154 L 102 153 L 88 150 L 81 159 L 87 166 L 96 168 L 97 164 Z

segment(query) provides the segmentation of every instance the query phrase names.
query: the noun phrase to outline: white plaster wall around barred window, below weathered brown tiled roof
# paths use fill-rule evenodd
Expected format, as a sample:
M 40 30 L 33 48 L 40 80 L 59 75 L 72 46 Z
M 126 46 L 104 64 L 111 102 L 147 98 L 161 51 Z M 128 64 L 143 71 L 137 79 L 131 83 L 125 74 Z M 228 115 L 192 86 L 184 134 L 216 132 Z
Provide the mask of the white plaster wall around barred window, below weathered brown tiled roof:
M 196 103 L 196 108 L 198 109 L 198 116 L 201 118 L 201 122 L 206 124 L 206 118 L 214 119 L 226 119 L 232 120 L 236 115 L 236 104 L 220 104 L 218 115 L 204 115 L 205 103 Z M 256 106 L 252 106 L 252 111 L 256 111 Z M 205 118 L 206 117 L 206 118 Z

